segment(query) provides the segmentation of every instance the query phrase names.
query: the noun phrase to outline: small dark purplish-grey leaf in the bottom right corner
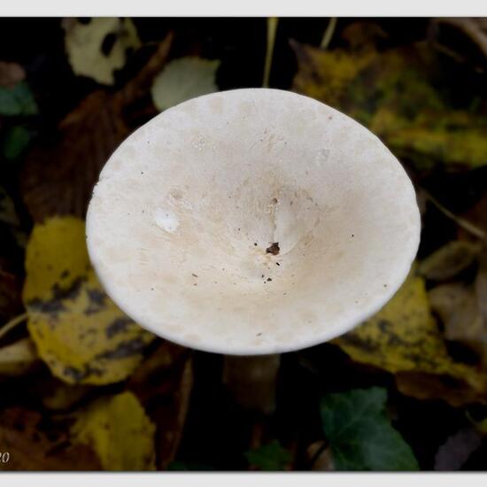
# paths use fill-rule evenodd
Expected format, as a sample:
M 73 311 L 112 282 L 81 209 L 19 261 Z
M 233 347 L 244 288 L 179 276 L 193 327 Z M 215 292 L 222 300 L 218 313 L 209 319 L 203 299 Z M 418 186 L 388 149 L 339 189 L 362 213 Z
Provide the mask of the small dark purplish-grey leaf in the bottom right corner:
M 471 427 L 460 429 L 438 448 L 435 456 L 435 470 L 460 470 L 481 443 L 482 437 L 475 429 Z

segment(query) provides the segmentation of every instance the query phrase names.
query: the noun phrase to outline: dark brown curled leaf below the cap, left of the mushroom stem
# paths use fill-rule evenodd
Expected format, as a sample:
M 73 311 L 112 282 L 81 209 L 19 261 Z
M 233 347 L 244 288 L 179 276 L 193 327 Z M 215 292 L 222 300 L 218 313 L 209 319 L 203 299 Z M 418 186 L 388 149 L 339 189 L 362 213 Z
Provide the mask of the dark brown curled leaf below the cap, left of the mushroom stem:
M 192 385 L 191 351 L 171 342 L 162 342 L 128 383 L 157 426 L 156 461 L 160 469 L 165 470 L 177 453 Z

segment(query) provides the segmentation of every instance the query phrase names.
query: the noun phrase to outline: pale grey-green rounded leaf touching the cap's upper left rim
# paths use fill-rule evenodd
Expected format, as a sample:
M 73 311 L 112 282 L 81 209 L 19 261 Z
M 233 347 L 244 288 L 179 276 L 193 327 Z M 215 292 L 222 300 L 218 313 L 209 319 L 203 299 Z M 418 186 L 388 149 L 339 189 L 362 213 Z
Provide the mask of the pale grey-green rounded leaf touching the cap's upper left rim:
M 219 60 L 174 59 L 154 79 L 151 88 L 154 104 L 159 110 L 166 110 L 189 98 L 218 91 L 215 75 L 219 66 Z

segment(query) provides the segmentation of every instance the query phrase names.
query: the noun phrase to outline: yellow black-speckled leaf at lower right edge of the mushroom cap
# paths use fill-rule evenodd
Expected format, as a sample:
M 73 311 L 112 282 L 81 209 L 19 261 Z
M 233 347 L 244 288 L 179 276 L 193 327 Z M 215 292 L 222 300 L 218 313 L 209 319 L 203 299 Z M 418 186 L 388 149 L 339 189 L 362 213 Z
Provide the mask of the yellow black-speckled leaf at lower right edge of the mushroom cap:
M 449 376 L 453 381 L 465 383 L 479 397 L 487 393 L 485 375 L 475 367 L 455 362 L 448 354 L 430 312 L 424 281 L 414 271 L 379 313 L 334 342 L 352 359 L 393 374 Z M 448 395 L 444 398 L 449 400 Z M 465 398 L 466 402 L 471 400 Z

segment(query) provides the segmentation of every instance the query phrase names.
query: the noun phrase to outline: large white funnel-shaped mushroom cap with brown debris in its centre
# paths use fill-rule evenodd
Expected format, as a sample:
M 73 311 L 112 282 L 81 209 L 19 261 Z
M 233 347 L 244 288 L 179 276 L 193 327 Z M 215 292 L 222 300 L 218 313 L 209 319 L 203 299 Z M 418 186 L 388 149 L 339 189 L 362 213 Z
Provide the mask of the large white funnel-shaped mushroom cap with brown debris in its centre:
M 143 328 L 228 354 L 319 344 L 377 312 L 420 238 L 414 188 L 356 121 L 276 89 L 197 97 L 135 131 L 89 205 L 89 255 Z

